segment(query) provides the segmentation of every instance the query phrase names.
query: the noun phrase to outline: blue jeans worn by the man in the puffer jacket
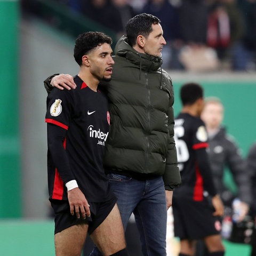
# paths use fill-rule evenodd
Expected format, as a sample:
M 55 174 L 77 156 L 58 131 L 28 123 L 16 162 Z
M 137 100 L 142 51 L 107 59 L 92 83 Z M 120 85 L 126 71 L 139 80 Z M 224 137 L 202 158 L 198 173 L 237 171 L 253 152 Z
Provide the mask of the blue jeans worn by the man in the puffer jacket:
M 108 174 L 108 178 L 117 197 L 124 229 L 133 212 L 143 255 L 165 256 L 167 206 L 163 178 L 141 181 L 114 173 Z M 102 254 L 94 246 L 90 255 Z

